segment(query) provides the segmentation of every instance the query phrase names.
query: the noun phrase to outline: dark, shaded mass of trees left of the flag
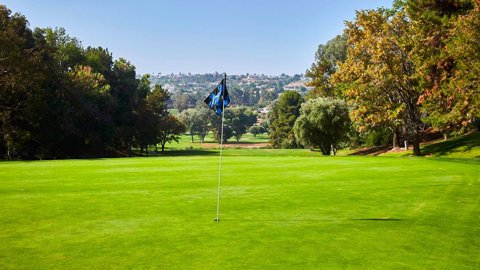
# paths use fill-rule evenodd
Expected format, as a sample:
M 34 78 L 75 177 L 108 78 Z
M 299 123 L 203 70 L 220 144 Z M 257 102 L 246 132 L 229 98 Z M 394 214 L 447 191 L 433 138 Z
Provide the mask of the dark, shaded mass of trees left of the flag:
M 186 128 L 149 75 L 137 79 L 130 61 L 84 48 L 62 28 L 32 30 L 0 5 L 0 46 L 0 157 L 132 155 L 178 141 Z

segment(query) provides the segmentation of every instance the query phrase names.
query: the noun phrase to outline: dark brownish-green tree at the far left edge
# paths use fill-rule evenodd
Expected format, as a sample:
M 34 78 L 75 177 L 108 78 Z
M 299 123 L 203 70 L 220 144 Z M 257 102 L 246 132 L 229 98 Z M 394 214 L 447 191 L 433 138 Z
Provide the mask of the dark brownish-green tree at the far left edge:
M 0 153 L 11 159 L 31 139 L 32 102 L 44 77 L 41 49 L 26 18 L 0 5 Z

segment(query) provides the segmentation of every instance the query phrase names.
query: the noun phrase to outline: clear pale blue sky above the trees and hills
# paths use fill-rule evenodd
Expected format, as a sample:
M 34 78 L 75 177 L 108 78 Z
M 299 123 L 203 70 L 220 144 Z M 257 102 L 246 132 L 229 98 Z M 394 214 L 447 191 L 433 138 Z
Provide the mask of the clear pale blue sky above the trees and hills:
M 66 29 L 107 47 L 137 73 L 305 73 L 319 44 L 341 34 L 355 10 L 392 0 L 176 1 L 3 0 L 30 26 Z

